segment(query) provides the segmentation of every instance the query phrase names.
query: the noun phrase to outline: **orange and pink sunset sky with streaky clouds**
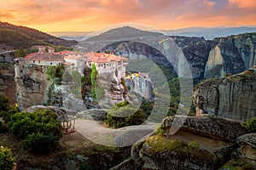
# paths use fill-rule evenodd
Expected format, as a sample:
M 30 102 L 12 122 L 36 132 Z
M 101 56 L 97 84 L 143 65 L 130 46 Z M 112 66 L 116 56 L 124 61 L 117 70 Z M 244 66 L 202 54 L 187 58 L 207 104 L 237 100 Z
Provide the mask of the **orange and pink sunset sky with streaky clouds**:
M 46 32 L 121 23 L 157 30 L 256 26 L 256 0 L 2 0 L 0 20 Z

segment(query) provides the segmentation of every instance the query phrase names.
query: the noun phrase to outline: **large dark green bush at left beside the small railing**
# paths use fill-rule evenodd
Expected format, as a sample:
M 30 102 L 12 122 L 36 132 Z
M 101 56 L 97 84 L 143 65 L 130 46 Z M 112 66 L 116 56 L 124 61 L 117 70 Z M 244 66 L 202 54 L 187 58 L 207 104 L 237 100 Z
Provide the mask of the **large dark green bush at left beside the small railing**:
M 54 150 L 61 139 L 61 124 L 57 116 L 49 110 L 32 113 L 22 112 L 11 116 L 9 129 L 19 137 L 25 150 L 46 153 Z

